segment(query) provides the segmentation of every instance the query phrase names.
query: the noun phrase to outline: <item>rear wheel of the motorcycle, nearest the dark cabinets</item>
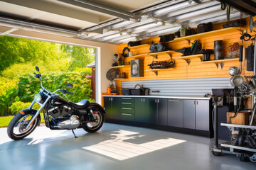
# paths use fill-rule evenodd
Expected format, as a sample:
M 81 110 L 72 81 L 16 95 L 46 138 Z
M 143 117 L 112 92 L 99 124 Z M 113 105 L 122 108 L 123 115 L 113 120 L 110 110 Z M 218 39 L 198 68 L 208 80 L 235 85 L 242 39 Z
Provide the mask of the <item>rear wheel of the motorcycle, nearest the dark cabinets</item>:
M 97 132 L 103 125 L 104 113 L 101 113 L 100 111 L 93 111 L 93 113 L 95 114 L 96 120 L 85 124 L 83 129 L 86 132 Z

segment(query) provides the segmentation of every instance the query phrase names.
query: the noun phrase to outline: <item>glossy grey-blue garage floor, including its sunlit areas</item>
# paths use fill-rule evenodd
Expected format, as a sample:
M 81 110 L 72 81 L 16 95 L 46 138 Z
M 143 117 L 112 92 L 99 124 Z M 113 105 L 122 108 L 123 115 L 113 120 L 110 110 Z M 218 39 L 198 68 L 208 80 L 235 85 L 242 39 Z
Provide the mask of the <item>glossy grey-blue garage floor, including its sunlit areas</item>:
M 0 129 L 0 169 L 256 169 L 238 157 L 210 153 L 206 137 L 105 123 L 99 132 L 38 127 L 24 140 Z

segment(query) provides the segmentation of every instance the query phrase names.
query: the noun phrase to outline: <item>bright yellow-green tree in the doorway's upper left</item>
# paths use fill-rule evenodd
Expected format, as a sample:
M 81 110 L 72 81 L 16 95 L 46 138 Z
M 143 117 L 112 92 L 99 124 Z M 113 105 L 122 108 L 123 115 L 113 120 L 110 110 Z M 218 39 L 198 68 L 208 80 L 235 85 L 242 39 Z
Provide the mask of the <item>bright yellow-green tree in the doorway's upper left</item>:
M 24 63 L 32 65 L 41 63 L 52 69 L 53 63 L 60 61 L 60 64 L 63 64 L 68 57 L 60 50 L 60 45 L 52 42 L 0 36 L 0 73 L 14 64 Z

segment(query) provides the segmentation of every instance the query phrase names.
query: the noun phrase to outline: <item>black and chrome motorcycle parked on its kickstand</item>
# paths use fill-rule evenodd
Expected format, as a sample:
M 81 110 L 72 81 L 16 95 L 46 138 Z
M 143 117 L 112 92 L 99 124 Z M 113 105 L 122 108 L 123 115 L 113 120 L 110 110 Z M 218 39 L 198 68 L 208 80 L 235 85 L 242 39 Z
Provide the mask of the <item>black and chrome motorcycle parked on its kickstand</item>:
M 36 67 L 38 74 L 34 73 L 33 77 L 40 79 L 41 89 L 38 94 L 35 94 L 31 105 L 19 111 L 17 115 L 12 118 L 7 128 L 7 134 L 12 140 L 21 140 L 28 136 L 41 123 L 41 115 L 43 110 L 43 117 L 45 119 L 46 127 L 50 130 L 72 130 L 75 138 L 74 129 L 83 128 L 87 132 L 96 132 L 100 130 L 105 120 L 105 108 L 102 108 L 98 103 L 90 103 L 90 101 L 82 100 L 78 103 L 68 101 L 65 94 L 72 94 L 66 89 L 58 89 L 53 93 L 43 87 L 43 81 L 39 68 Z M 72 89 L 73 84 L 67 84 L 67 87 Z M 56 92 L 67 98 L 60 97 Z M 36 111 L 33 105 L 37 103 L 41 107 Z

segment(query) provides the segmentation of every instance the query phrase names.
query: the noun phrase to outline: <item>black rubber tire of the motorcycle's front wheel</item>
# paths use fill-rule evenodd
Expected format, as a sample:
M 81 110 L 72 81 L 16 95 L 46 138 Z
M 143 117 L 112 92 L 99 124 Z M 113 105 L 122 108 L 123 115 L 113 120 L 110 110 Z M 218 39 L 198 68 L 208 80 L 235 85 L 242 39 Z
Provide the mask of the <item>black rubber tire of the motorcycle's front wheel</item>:
M 33 114 L 29 114 L 29 115 L 33 116 Z M 22 115 L 21 113 L 18 113 L 17 115 L 14 116 L 14 118 L 11 119 L 11 122 L 9 123 L 7 128 L 7 134 L 12 140 L 22 140 L 24 137 L 27 137 L 29 134 L 31 134 L 31 132 L 33 132 L 33 130 L 35 130 L 36 126 L 39 124 L 40 119 L 37 117 L 36 120 L 31 125 L 31 128 L 27 132 L 21 133 L 20 135 L 16 135 L 14 133 L 14 128 L 18 123 L 18 120 L 21 120 L 21 118 L 23 118 L 24 116 L 26 115 Z

